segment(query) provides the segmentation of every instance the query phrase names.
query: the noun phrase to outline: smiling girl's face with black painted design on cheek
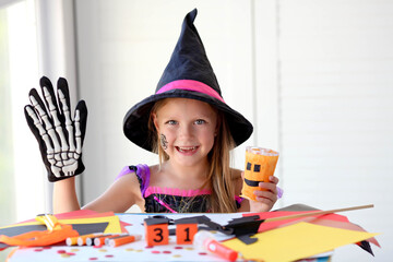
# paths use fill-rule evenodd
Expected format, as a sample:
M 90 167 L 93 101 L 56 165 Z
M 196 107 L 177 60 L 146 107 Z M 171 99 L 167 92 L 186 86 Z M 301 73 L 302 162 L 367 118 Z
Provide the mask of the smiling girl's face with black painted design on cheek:
M 207 159 L 217 131 L 217 114 L 209 104 L 169 98 L 153 114 L 153 121 L 170 160 L 192 166 Z

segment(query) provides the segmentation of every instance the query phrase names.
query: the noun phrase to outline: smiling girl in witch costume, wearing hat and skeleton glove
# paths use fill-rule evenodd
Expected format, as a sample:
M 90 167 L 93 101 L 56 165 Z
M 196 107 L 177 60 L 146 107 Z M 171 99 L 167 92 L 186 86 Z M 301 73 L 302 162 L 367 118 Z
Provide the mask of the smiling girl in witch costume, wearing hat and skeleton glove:
M 259 184 L 261 191 L 254 192 L 257 201 L 238 196 L 242 174 L 229 167 L 229 152 L 251 135 L 252 124 L 224 102 L 193 24 L 195 16 L 196 10 L 193 10 L 184 17 L 180 38 L 155 94 L 138 103 L 124 117 L 126 136 L 142 148 L 157 153 L 159 164 L 124 167 L 109 189 L 83 209 L 123 213 L 136 204 L 148 213 L 263 212 L 276 202 L 276 177 Z M 38 115 L 32 106 L 25 107 L 25 114 L 40 144 L 49 180 L 56 181 L 53 212 L 79 210 L 74 176 L 84 169 L 81 147 L 87 110 L 84 103 L 79 104 L 75 119 L 71 120 L 66 80 L 58 83 L 60 108 L 57 108 L 50 81 L 41 81 L 41 87 L 49 112 L 37 93 L 31 92 L 32 105 Z M 49 115 L 52 128 L 45 122 Z M 37 121 L 39 118 L 46 123 L 43 127 Z M 68 135 L 61 135 L 59 127 Z M 58 135 L 51 135 L 53 130 Z M 59 138 L 56 150 L 51 146 L 56 143 L 48 140 Z M 61 160 L 53 160 L 57 158 Z

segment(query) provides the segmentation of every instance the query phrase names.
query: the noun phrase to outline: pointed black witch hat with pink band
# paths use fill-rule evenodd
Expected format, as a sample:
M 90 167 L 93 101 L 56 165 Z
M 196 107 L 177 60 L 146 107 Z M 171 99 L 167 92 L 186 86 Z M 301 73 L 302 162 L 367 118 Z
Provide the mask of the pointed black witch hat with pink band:
M 193 24 L 195 16 L 196 9 L 186 15 L 179 40 L 155 94 L 138 103 L 124 117 L 126 136 L 147 151 L 152 151 L 147 127 L 151 109 L 154 103 L 164 98 L 196 99 L 222 110 L 236 145 L 248 140 L 252 133 L 252 124 L 241 114 L 231 109 L 222 97 L 217 79 Z

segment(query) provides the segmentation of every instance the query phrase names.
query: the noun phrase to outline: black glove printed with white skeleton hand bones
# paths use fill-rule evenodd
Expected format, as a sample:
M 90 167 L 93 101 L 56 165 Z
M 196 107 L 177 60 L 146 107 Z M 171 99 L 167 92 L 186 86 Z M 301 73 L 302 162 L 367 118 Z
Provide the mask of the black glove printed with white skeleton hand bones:
M 37 139 L 49 181 L 58 181 L 81 174 L 82 145 L 86 132 L 87 108 L 84 100 L 75 107 L 71 118 L 70 94 L 66 79 L 57 83 L 57 99 L 53 86 L 46 76 L 40 79 L 43 99 L 32 88 L 28 98 L 32 105 L 24 108 L 27 124 Z

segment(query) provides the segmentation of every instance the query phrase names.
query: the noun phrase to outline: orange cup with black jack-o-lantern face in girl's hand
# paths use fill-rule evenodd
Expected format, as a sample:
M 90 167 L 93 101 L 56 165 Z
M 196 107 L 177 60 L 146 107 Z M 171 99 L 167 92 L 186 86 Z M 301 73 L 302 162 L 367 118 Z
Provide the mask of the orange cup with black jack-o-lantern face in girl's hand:
M 259 182 L 270 182 L 278 160 L 278 153 L 264 148 L 247 148 L 245 180 L 241 196 L 255 200 L 255 190 L 261 190 Z

